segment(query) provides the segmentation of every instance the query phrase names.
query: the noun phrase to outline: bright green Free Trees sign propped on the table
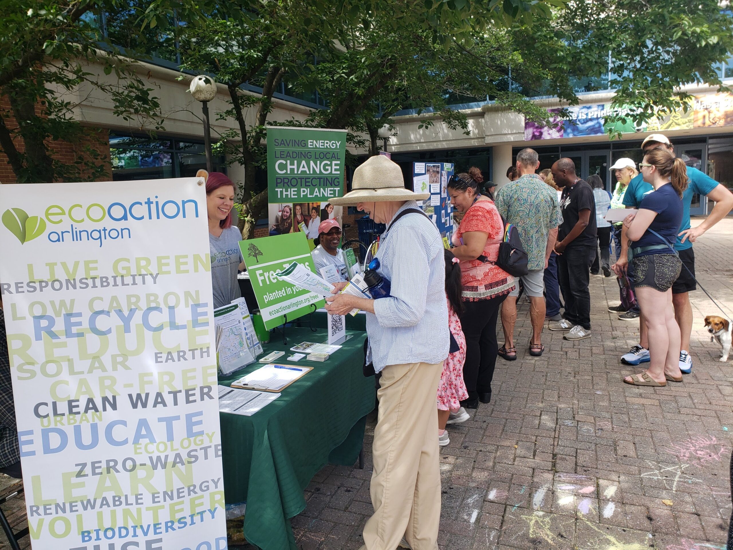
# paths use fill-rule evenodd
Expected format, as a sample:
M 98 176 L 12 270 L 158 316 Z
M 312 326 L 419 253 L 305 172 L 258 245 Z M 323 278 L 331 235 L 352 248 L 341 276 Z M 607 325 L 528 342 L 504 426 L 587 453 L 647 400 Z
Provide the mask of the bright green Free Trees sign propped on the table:
M 265 329 L 274 329 L 287 320 L 303 317 L 322 307 L 323 298 L 309 290 L 291 285 L 276 276 L 293 262 L 306 265 L 314 273 L 315 265 L 303 232 L 240 241 L 242 257 L 257 298 Z

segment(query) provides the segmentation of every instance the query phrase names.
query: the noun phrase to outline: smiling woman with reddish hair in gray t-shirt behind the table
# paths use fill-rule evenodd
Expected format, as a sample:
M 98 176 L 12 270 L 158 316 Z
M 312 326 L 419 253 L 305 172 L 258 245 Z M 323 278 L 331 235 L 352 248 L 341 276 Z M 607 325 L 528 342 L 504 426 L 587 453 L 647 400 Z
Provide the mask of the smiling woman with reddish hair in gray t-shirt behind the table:
M 237 282 L 237 270 L 244 271 L 244 259 L 239 248 L 242 234 L 232 225 L 235 185 L 226 175 L 212 172 L 206 180 L 206 210 L 209 217 L 209 246 L 211 249 L 211 286 L 214 307 L 230 304 L 242 292 Z

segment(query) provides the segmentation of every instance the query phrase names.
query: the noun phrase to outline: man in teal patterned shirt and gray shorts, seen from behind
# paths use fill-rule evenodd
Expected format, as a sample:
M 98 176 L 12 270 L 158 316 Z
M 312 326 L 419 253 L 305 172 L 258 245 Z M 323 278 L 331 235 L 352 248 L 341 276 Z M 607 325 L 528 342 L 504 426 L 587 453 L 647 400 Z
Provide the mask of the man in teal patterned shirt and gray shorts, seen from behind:
M 523 149 L 517 154 L 519 179 L 507 183 L 496 192 L 496 208 L 508 224 L 519 230 L 522 244 L 528 255 L 529 273 L 521 277 L 524 291 L 531 301 L 530 318 L 532 340 L 529 353 L 539 357 L 542 345 L 542 326 L 545 324 L 544 274 L 550 252 L 555 246 L 557 227 L 562 223 L 560 203 L 556 191 L 534 172 L 539 168 L 537 151 Z M 501 326 L 504 329 L 504 345 L 499 355 L 514 361 L 517 350 L 514 345 L 514 326 L 517 322 L 517 296 L 519 285 L 501 304 Z

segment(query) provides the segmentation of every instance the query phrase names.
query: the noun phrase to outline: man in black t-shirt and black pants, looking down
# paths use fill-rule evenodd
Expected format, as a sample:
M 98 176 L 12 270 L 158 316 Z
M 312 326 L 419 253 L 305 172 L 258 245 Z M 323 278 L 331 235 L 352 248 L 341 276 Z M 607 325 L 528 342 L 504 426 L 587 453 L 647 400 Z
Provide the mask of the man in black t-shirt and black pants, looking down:
M 575 175 L 575 164 L 561 158 L 552 166 L 557 186 L 562 187 L 559 227 L 555 252 L 557 275 L 565 298 L 564 319 L 550 323 L 551 331 L 568 331 L 565 340 L 591 337 L 590 265 L 596 247 L 595 199 L 591 186 Z

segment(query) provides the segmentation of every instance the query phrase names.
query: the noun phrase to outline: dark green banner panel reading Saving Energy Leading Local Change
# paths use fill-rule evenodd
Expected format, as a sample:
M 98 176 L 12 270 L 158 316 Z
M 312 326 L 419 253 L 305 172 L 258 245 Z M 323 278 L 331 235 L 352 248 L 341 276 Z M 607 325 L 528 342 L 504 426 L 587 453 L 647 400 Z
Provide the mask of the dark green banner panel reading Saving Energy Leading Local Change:
M 268 202 L 341 197 L 346 131 L 268 127 Z

